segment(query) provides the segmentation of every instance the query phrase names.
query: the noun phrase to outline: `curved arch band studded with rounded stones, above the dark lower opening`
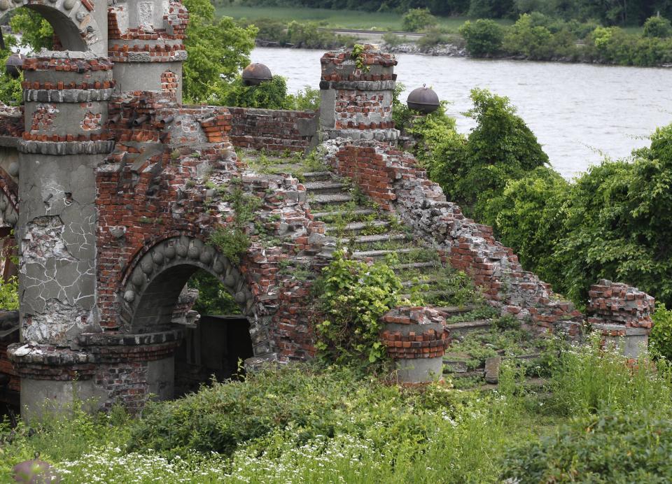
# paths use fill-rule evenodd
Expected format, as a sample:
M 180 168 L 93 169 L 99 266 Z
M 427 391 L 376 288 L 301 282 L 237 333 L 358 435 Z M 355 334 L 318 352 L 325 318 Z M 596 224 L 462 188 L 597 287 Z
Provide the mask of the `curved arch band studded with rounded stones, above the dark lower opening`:
M 187 281 L 202 269 L 224 285 L 256 332 L 259 302 L 241 271 L 215 248 L 193 236 L 155 243 L 133 264 L 118 294 L 124 332 L 143 334 L 174 329 L 174 310 Z

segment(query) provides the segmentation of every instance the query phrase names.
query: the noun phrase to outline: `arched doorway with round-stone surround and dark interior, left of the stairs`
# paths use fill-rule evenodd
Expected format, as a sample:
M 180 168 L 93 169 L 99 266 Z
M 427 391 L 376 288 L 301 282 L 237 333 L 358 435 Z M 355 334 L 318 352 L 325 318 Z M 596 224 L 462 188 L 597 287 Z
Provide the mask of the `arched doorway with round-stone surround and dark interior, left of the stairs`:
M 216 284 L 228 294 L 229 307 L 237 308 L 237 314 L 203 315 L 196 320 L 195 294 L 193 289 L 190 294 L 188 281 L 203 273 L 207 274 L 202 276 L 204 284 L 209 290 Z M 163 397 L 197 390 L 212 375 L 217 380 L 230 378 L 239 360 L 255 356 L 258 302 L 240 269 L 202 240 L 176 236 L 156 243 L 133 264 L 124 287 L 120 298 L 124 332 L 183 330 L 181 346 L 157 377 L 162 379 L 160 386 L 174 389 L 162 392 Z

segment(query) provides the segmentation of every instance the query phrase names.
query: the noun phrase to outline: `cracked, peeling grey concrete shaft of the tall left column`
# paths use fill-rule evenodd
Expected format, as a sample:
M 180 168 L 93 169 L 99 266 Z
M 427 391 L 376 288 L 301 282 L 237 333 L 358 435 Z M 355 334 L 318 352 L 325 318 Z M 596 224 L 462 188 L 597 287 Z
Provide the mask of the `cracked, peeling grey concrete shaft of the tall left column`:
M 95 311 L 97 157 L 21 155 L 20 300 L 26 341 L 69 346 Z

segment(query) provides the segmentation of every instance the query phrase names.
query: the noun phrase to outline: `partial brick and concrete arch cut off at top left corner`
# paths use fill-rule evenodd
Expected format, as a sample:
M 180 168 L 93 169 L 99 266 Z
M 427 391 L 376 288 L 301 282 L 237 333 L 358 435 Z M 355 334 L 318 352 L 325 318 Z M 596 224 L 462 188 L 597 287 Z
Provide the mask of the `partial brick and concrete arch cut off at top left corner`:
M 93 0 L 0 0 L 0 17 L 20 7 L 30 8 L 44 17 L 64 50 L 106 53 L 106 31 L 103 32 L 94 19 Z

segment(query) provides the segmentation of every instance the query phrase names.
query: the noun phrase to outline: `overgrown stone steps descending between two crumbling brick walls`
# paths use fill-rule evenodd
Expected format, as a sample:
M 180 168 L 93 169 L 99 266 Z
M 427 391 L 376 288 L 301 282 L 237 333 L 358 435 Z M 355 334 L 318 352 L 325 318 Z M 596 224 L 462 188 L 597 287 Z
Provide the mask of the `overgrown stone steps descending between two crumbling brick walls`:
M 353 259 L 386 260 L 402 280 L 403 297 L 421 297 L 424 305 L 442 312 L 456 342 L 472 333 L 491 331 L 496 311 L 471 281 L 443 266 L 437 250 L 414 237 L 395 214 L 381 210 L 351 180 L 337 176 L 319 160 L 298 155 L 244 151 L 239 157 L 253 171 L 292 173 L 299 178 L 307 190 L 312 215 L 325 223 L 325 233 L 333 237 L 333 243 Z M 484 375 L 484 368 L 468 369 L 466 361 L 472 358 L 449 350 L 444 358 L 445 373 L 454 378 Z

